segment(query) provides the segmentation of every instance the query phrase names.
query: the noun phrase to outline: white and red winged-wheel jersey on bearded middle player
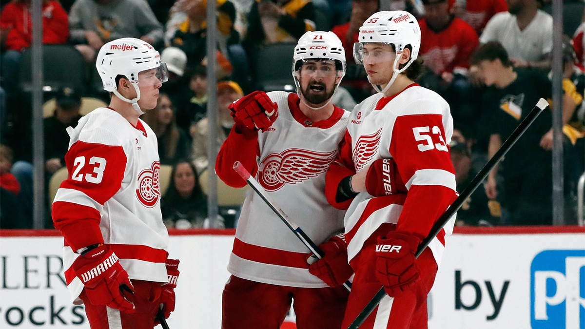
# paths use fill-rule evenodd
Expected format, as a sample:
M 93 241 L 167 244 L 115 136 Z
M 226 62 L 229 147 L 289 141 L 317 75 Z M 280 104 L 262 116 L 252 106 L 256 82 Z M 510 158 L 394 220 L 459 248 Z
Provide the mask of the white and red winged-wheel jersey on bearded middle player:
M 311 122 L 298 107 L 297 94 L 268 93 L 278 118 L 265 132 L 245 138 L 234 130 L 219 151 L 216 172 L 231 186 L 246 183 L 232 169 L 238 160 L 256 177 L 271 200 L 315 244 L 343 230 L 343 211 L 325 198 L 325 173 L 338 155 L 349 112 L 335 108 L 331 118 Z M 236 228 L 228 270 L 255 282 L 293 287 L 326 287 L 308 271 L 308 248 L 253 191 L 247 195 Z

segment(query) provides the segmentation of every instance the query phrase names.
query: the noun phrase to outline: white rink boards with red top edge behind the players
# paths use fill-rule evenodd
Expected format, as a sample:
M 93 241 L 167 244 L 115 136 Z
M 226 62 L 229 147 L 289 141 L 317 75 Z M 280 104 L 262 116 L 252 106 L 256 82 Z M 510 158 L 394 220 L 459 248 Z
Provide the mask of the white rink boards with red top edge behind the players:
M 429 328 L 585 329 L 585 228 L 456 232 L 429 296 Z M 63 238 L 30 234 L 0 231 L 0 328 L 89 328 L 64 283 Z M 221 327 L 232 244 L 233 230 L 171 232 L 181 275 L 169 327 Z

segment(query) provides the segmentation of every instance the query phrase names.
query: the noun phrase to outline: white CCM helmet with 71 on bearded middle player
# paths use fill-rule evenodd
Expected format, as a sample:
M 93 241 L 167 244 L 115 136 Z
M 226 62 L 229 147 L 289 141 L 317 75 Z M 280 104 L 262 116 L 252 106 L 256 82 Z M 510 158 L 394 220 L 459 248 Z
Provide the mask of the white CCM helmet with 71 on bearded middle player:
M 297 46 L 295 46 L 294 53 L 292 54 L 292 78 L 294 78 L 295 85 L 297 86 L 297 93 L 301 92 L 301 84 L 298 81 L 298 70 L 300 70 L 302 62 L 308 59 L 333 60 L 335 61 L 337 76 L 341 78 L 345 76 L 345 49 L 343 49 L 343 44 L 339 40 L 339 37 L 331 31 L 306 32 L 298 40 Z M 341 79 L 335 85 L 335 90 L 337 90 L 340 83 Z

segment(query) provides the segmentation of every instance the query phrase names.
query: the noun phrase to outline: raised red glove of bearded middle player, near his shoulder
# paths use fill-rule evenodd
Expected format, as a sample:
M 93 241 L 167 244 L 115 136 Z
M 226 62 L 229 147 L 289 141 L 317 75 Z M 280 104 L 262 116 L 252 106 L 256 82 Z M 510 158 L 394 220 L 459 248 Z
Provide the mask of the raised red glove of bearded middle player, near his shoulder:
M 278 116 L 278 104 L 264 91 L 254 91 L 229 105 L 233 121 L 240 129 L 269 128 Z

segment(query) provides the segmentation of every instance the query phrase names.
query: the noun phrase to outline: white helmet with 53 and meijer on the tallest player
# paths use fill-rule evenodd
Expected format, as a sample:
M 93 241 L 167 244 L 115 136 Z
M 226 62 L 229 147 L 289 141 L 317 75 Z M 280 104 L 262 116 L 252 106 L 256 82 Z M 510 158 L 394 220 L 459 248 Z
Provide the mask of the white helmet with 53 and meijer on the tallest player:
M 418 51 L 421 49 L 421 28 L 414 15 L 406 11 L 374 13 L 360 27 L 358 38 L 359 41 L 353 45 L 353 58 L 358 64 L 363 64 L 363 45 L 365 43 L 385 43 L 394 46 L 396 52 L 394 74 L 387 87 L 390 87 L 398 74 L 406 70 L 417 59 Z M 411 46 L 410 60 L 398 70 L 396 64 L 402 50 L 408 45 Z

